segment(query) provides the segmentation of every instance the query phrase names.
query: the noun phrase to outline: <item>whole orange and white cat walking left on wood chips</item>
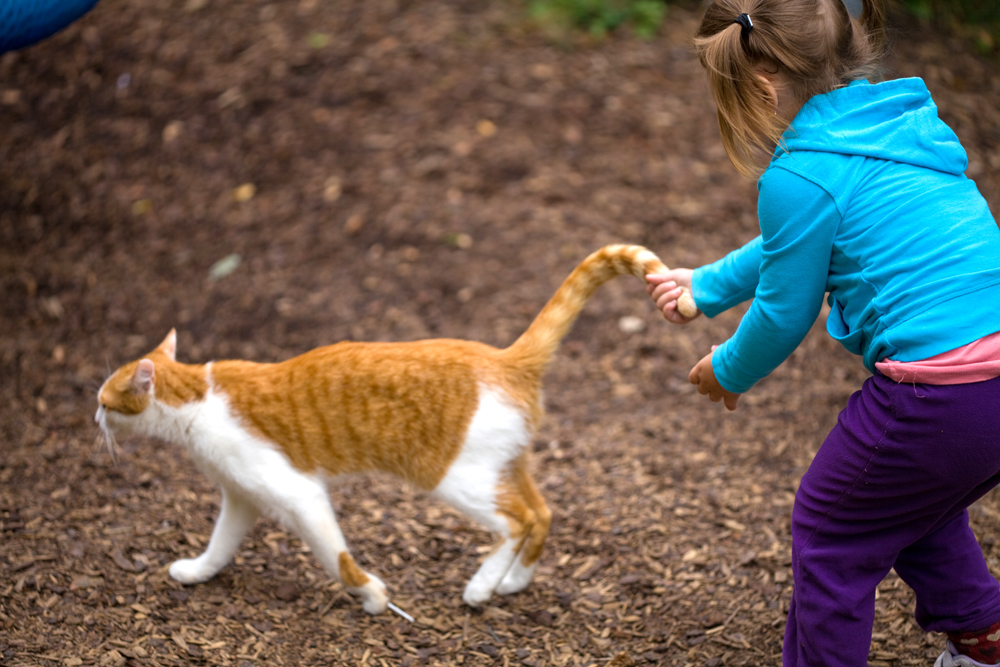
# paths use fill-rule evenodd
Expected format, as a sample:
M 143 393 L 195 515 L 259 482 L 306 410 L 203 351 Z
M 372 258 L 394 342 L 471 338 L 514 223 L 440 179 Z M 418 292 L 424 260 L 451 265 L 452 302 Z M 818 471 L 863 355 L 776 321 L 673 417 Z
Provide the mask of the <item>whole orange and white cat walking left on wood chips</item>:
M 449 339 L 341 342 L 281 363 L 190 365 L 177 361 L 172 329 L 104 382 L 95 420 L 109 446 L 130 434 L 186 446 L 221 487 L 204 553 L 170 565 L 181 583 L 215 576 L 263 513 L 297 533 L 366 612 L 383 612 L 386 586 L 351 557 L 327 493 L 339 475 L 383 471 L 500 534 L 465 587 L 463 600 L 479 607 L 531 582 L 549 531 L 527 458 L 546 363 L 601 284 L 665 270 L 642 246 L 606 246 L 503 350 Z

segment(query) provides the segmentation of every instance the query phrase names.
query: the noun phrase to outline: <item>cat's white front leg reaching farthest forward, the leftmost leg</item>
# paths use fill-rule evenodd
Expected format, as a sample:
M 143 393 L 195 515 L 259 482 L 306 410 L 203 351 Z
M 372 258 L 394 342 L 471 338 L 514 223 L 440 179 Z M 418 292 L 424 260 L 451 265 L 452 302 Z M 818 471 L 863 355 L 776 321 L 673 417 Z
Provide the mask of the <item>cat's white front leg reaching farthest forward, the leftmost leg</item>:
M 197 558 L 183 558 L 170 564 L 170 576 L 182 584 L 200 584 L 225 567 L 257 520 L 259 512 L 238 492 L 222 489 L 222 511 L 215 521 L 212 537 Z

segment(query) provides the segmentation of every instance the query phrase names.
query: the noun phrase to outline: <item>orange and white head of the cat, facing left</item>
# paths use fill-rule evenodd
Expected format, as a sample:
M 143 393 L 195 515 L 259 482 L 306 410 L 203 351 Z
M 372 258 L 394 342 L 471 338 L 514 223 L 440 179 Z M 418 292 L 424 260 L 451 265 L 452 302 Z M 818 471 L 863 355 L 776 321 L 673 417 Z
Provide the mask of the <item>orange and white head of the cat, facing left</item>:
M 171 329 L 155 350 L 125 364 L 104 381 L 97 393 L 94 421 L 101 427 L 109 445 L 115 435 L 140 430 L 143 415 L 156 397 L 157 366 L 164 370 L 176 358 L 177 332 Z

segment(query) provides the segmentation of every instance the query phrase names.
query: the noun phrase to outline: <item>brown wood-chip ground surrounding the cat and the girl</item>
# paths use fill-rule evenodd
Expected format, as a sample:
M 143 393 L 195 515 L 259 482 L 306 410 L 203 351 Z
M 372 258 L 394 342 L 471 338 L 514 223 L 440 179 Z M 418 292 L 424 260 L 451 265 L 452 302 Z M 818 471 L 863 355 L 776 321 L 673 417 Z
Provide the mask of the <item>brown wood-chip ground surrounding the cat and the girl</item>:
M 866 375 L 821 322 L 727 413 L 686 375 L 739 313 L 674 327 L 638 282 L 609 284 L 547 377 L 535 465 L 555 522 L 526 592 L 470 611 L 489 535 L 391 479 L 334 491 L 414 623 L 363 613 L 269 521 L 214 580 L 178 585 L 165 568 L 205 543 L 218 493 L 177 448 L 128 441 L 115 463 L 94 442 L 96 387 L 171 327 L 193 362 L 504 346 L 602 244 L 695 266 L 754 236 L 692 14 L 600 44 L 522 16 L 103 0 L 0 58 L 0 663 L 780 664 L 797 480 Z M 1000 77 L 940 34 L 895 36 L 894 74 L 927 79 L 997 210 Z M 997 566 L 998 497 L 972 517 Z M 942 650 L 912 604 L 881 585 L 871 664 Z

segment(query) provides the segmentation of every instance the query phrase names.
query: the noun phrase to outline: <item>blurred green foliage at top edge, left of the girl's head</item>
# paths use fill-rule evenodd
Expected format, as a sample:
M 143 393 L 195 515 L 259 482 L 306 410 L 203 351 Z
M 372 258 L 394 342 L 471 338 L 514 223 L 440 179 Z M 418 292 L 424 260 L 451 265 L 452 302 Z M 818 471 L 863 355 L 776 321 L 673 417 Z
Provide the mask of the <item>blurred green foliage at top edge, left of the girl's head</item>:
M 583 29 L 603 37 L 622 25 L 650 39 L 667 14 L 665 0 L 531 0 L 531 17 L 555 30 Z

